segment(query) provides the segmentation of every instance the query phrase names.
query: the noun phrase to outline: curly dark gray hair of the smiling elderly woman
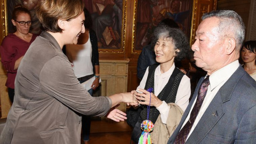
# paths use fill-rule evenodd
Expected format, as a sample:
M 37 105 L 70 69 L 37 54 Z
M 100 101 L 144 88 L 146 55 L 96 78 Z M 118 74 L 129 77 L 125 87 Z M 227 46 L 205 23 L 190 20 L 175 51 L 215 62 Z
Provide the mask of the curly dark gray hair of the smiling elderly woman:
M 179 49 L 179 52 L 176 52 L 174 60 L 180 61 L 187 56 L 190 46 L 188 38 L 183 31 L 178 28 L 170 28 L 166 25 L 158 25 L 154 30 L 151 44 L 155 45 L 157 40 L 162 36 L 172 41 L 175 50 Z

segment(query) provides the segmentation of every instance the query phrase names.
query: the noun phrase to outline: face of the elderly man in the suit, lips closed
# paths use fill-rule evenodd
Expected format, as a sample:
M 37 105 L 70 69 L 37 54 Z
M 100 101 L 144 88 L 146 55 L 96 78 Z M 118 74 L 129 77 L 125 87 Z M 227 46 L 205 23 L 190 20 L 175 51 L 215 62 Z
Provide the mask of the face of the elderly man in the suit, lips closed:
M 195 52 L 196 66 L 212 74 L 223 66 L 225 51 L 218 29 L 219 19 L 212 17 L 203 20 L 196 31 L 196 41 L 191 49 Z M 224 33 L 224 32 L 223 32 Z

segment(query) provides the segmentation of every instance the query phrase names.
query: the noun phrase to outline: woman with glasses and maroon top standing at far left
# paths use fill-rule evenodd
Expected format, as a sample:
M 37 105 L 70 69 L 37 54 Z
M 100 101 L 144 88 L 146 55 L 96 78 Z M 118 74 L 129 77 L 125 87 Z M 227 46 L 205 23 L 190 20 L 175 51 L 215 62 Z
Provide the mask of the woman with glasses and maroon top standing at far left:
M 12 24 L 16 31 L 4 37 L 0 47 L 1 62 L 7 71 L 6 86 L 11 102 L 14 98 L 14 79 L 23 55 L 29 45 L 36 39 L 37 34 L 29 33 L 31 26 L 30 12 L 20 4 L 15 6 L 12 13 Z

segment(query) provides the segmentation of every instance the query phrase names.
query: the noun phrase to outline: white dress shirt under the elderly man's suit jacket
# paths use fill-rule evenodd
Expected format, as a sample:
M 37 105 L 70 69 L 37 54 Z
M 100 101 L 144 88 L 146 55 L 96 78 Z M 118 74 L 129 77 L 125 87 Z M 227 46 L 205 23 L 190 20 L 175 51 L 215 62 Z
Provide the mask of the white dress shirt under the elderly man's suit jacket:
M 205 95 L 204 101 L 202 103 L 201 109 L 198 111 L 198 115 L 195 119 L 193 126 L 191 127 L 188 137 L 194 131 L 196 125 L 198 124 L 199 120 L 203 116 L 207 107 L 210 105 L 210 103 L 211 103 L 212 99 L 215 97 L 216 93 L 220 90 L 221 86 L 228 81 L 228 79 L 231 77 L 231 75 L 233 75 L 235 73 L 235 71 L 237 70 L 238 67 L 239 67 L 239 62 L 238 62 L 238 60 L 236 60 L 234 62 L 229 63 L 229 65 L 215 71 L 212 75 L 210 75 L 210 77 L 209 77 L 210 85 L 208 86 L 208 90 Z M 190 113 L 191 113 L 195 103 L 196 103 L 196 100 L 194 101 L 193 106 L 191 107 L 189 114 L 188 114 L 185 122 L 183 123 L 182 127 L 187 123 L 187 121 L 190 117 Z M 182 127 L 181 127 L 181 129 L 182 129 Z M 188 137 L 187 137 L 187 139 L 188 139 Z

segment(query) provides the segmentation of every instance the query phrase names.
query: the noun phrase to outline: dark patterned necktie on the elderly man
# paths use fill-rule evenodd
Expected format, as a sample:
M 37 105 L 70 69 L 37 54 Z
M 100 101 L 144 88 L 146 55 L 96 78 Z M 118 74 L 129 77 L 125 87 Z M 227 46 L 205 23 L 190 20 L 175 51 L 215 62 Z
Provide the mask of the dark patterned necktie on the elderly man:
M 180 132 L 178 133 L 174 144 L 180 144 L 180 143 L 185 143 L 188 134 L 191 130 L 192 125 L 195 122 L 196 116 L 198 114 L 198 111 L 200 110 L 202 103 L 204 101 L 208 86 L 210 85 L 210 81 L 209 81 L 209 76 L 207 76 L 203 83 L 201 84 L 199 91 L 198 91 L 198 95 L 197 95 L 197 99 L 196 99 L 196 103 L 194 105 L 194 108 L 191 111 L 190 117 L 188 122 L 183 126 L 183 128 L 180 130 Z

